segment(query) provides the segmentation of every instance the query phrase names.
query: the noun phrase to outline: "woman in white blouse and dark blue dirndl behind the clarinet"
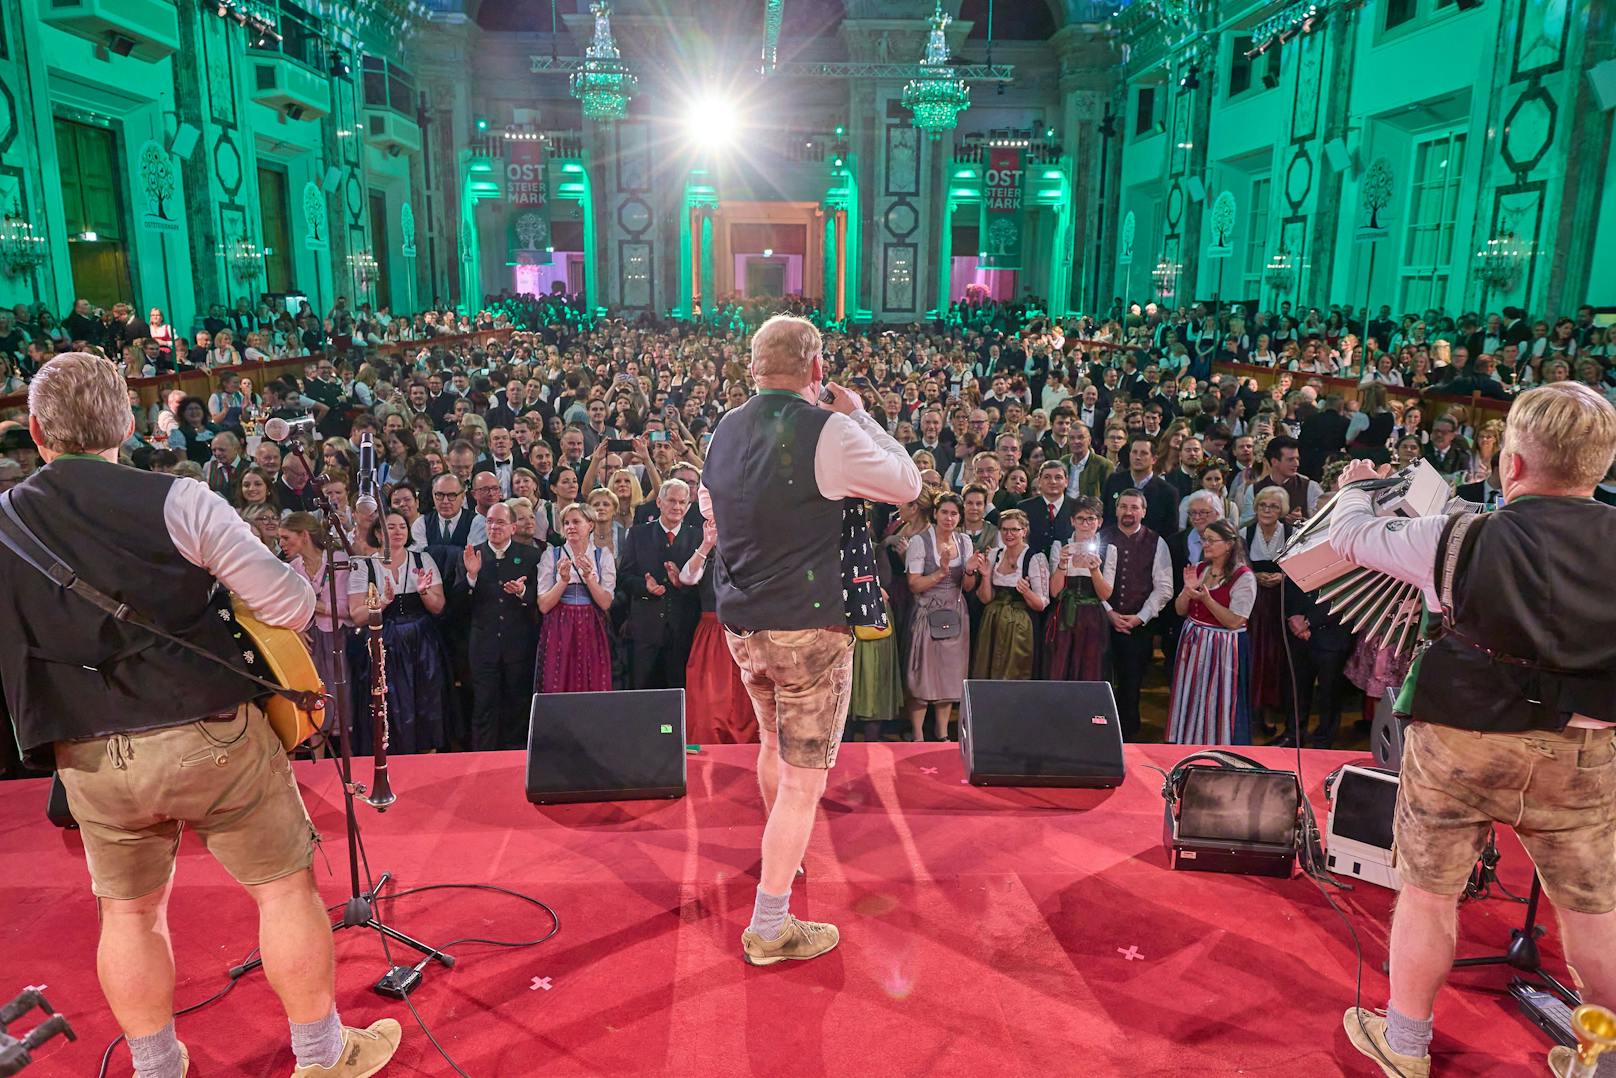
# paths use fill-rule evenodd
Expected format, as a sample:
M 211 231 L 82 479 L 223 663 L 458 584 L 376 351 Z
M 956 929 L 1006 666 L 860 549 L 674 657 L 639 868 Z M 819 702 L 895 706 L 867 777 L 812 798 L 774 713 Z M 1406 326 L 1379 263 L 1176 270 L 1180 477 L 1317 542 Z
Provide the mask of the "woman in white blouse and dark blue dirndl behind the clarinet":
M 402 512 L 389 509 L 386 516 L 372 520 L 367 538 L 377 548 L 381 548 L 383 527 L 388 556 L 377 554 L 354 562 L 347 574 L 347 614 L 357 625 L 368 624 L 368 595 L 375 587 L 386 651 L 388 752 L 438 752 L 444 747 L 444 719 L 452 706 L 454 680 L 449 648 L 436 619 L 443 613 L 443 577 L 438 575 L 431 554 L 409 550 L 409 520 Z M 365 755 L 375 747 L 375 724 L 365 710 L 372 669 L 370 653 L 362 650 L 359 655 L 365 664 L 354 677 L 359 690 L 354 753 Z

